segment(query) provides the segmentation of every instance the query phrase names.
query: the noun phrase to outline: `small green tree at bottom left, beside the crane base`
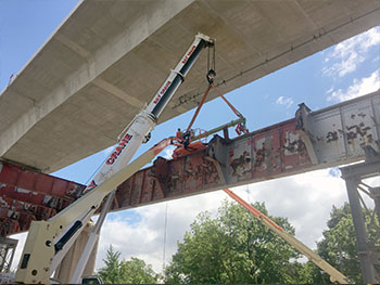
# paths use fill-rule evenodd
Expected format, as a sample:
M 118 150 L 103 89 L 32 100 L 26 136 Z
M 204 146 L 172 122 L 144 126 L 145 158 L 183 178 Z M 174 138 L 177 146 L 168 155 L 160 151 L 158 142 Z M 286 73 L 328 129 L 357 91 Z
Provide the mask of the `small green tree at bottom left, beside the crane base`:
M 119 260 L 121 252 L 114 251 L 112 245 L 106 251 L 106 258 L 103 259 L 105 267 L 98 272 L 99 276 L 106 284 L 148 284 L 157 283 L 161 278 L 152 265 L 143 260 L 131 257 L 130 260 Z

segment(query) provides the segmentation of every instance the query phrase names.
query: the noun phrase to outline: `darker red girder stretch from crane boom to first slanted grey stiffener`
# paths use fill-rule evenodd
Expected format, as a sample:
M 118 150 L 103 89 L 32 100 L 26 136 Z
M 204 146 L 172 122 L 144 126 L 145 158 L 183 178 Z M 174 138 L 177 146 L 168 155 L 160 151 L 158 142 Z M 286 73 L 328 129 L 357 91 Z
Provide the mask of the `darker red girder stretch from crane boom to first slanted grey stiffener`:
M 114 209 L 150 204 L 175 198 L 178 191 L 189 195 L 202 191 L 205 185 L 219 183 L 217 169 L 205 158 L 204 152 L 194 153 L 177 160 L 159 157 L 152 167 L 140 170 L 122 183 L 116 191 L 118 207 Z

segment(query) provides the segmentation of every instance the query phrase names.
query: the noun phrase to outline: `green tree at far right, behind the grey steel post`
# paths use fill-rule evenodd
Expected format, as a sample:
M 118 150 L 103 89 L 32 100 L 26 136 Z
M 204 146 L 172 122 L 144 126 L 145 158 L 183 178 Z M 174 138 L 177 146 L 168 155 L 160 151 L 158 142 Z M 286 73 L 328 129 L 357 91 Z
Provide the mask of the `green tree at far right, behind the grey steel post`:
M 366 226 L 369 229 L 369 239 L 376 241 L 376 229 L 370 228 L 370 216 L 366 215 Z M 378 225 L 377 220 L 375 221 Z M 342 207 L 332 206 L 330 219 L 327 222 L 328 230 L 324 231 L 324 238 L 317 244 L 317 251 L 331 265 L 345 274 L 354 283 L 363 283 L 360 264 L 356 251 L 355 229 L 347 203 Z M 377 244 L 378 245 L 378 244 Z M 312 268 L 314 283 L 328 283 L 329 276 L 315 267 Z

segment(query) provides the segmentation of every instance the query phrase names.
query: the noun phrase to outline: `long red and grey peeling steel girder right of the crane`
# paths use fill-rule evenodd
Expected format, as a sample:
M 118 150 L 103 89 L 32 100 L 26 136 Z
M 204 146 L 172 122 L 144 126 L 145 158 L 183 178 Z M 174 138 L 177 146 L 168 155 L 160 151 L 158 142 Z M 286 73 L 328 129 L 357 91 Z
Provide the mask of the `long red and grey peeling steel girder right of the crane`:
M 293 119 L 159 157 L 118 186 L 113 210 L 358 161 L 366 147 L 379 152 L 379 138 L 380 91 L 317 112 L 301 104 Z

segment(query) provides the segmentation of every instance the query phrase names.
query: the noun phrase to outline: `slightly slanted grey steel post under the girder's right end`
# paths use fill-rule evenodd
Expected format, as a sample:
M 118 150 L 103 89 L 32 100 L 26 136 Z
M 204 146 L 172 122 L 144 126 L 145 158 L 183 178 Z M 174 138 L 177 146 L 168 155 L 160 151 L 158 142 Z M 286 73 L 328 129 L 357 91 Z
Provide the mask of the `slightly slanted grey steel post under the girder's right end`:
M 345 178 L 352 219 L 356 234 L 357 255 L 359 257 L 363 282 L 376 283 L 375 268 L 371 260 L 371 252 L 368 248 L 368 236 L 365 226 L 364 213 L 357 193 L 358 179 L 355 177 Z

